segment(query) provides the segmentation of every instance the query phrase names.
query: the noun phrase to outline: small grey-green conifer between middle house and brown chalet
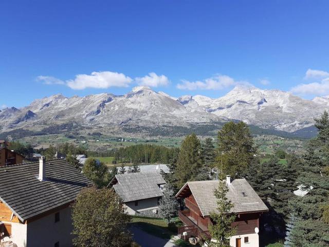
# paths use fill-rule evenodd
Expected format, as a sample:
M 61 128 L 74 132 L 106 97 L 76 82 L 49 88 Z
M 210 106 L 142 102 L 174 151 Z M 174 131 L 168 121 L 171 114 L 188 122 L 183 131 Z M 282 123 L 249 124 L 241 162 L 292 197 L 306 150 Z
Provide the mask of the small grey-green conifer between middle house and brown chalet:
M 163 187 L 163 197 L 159 203 L 159 215 L 162 219 L 170 223 L 171 219 L 177 215 L 177 200 L 174 197 L 174 190 L 170 184 L 166 184 Z

